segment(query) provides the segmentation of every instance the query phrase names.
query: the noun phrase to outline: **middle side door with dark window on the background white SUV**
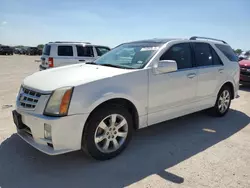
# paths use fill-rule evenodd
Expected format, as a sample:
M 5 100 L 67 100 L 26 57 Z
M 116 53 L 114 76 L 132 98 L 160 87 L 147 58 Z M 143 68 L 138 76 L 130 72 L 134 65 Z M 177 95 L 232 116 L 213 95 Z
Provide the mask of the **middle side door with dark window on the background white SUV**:
M 76 62 L 86 63 L 95 60 L 93 46 L 76 45 Z

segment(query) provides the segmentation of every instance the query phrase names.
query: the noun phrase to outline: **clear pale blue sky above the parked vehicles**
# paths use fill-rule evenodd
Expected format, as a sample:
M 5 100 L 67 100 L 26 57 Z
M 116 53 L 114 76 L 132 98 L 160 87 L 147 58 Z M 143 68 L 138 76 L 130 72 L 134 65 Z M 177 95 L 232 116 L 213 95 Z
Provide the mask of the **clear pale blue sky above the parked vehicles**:
M 0 0 L 0 44 L 191 36 L 250 50 L 250 0 Z

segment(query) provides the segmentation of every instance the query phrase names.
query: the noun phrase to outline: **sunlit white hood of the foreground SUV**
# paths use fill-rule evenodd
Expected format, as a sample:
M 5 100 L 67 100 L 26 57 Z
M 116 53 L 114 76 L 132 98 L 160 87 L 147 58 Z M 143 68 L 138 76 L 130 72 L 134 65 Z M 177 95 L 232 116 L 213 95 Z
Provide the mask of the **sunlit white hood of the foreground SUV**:
M 82 85 L 131 71 L 134 70 L 76 64 L 36 72 L 24 79 L 23 86 L 40 92 L 50 92 L 61 87 Z

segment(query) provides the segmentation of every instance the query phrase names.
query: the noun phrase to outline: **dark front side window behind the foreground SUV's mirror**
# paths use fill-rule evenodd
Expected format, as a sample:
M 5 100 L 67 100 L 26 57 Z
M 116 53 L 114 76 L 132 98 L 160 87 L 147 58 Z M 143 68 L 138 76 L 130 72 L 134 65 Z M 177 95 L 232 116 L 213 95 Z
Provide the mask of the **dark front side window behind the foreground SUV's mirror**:
M 178 69 L 192 67 L 192 56 L 189 43 L 173 45 L 160 58 L 160 60 L 175 60 Z

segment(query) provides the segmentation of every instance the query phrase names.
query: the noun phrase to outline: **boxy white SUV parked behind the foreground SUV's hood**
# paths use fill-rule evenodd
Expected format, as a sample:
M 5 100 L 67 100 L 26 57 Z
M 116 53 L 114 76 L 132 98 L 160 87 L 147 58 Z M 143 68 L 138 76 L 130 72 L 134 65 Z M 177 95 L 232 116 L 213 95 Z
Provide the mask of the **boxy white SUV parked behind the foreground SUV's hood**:
M 43 48 L 39 69 L 92 62 L 108 51 L 107 46 L 88 42 L 50 42 Z

